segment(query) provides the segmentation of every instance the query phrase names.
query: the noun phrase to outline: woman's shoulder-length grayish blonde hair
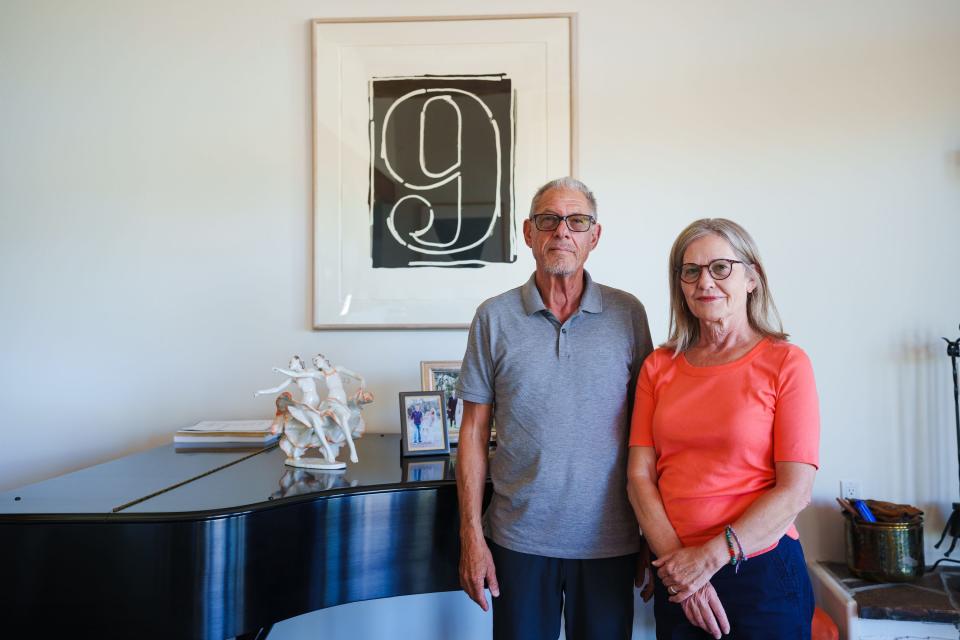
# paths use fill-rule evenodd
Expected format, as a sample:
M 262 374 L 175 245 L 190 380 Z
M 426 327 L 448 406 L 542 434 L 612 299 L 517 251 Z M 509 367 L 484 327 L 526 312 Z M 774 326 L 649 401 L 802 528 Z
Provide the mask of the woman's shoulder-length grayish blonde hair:
M 696 240 L 705 236 L 718 236 L 726 240 L 733 248 L 737 260 L 743 262 L 747 275 L 752 277 L 756 288 L 747 294 L 747 320 L 750 326 L 763 336 L 777 340 L 787 340 L 783 332 L 783 323 L 773 303 L 773 296 L 767 285 L 767 274 L 760 262 L 760 252 L 747 230 L 726 218 L 703 218 L 692 222 L 680 232 L 670 249 L 670 337 L 663 346 L 675 353 L 682 353 L 697 344 L 700 339 L 700 321 L 687 308 L 686 298 L 680 287 L 680 265 L 683 254 Z

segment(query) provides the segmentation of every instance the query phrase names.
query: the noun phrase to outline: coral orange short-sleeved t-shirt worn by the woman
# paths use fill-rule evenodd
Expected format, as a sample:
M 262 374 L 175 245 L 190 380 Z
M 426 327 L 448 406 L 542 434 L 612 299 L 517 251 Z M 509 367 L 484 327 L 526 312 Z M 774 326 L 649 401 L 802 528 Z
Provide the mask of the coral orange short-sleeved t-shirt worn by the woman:
M 764 338 L 709 367 L 660 348 L 643 363 L 630 446 L 656 451 L 660 496 L 684 546 L 719 535 L 772 489 L 775 462 L 818 466 L 819 444 L 813 368 L 799 347 Z M 793 523 L 786 533 L 799 537 Z

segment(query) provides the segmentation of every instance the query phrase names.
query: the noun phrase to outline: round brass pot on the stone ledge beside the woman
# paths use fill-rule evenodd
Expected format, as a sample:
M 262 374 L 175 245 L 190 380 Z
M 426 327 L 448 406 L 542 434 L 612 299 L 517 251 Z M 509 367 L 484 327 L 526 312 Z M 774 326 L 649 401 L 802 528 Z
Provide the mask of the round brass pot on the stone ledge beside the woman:
M 923 575 L 923 520 L 861 522 L 843 514 L 847 568 L 865 580 L 910 582 Z

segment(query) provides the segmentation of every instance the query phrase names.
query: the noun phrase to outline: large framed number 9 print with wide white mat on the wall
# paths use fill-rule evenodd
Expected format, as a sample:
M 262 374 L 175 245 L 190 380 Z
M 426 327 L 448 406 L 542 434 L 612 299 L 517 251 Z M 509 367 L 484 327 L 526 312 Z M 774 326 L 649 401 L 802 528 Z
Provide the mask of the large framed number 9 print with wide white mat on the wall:
M 575 173 L 574 16 L 313 22 L 314 327 L 466 328 Z

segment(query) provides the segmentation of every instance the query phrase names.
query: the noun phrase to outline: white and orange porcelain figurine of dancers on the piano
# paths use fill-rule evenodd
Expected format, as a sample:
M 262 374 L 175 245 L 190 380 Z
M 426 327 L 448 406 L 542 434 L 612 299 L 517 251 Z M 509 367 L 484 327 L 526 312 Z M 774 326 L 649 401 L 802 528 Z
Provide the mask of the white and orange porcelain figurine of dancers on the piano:
M 346 463 L 337 462 L 336 457 L 344 443 L 350 449 L 350 461 L 358 461 L 353 440 L 363 435 L 366 427 L 361 408 L 373 401 L 373 395 L 366 390 L 362 376 L 344 367 L 333 366 L 325 356 L 315 356 L 313 364 L 316 369 L 307 370 L 303 361 L 294 356 L 289 369 L 273 369 L 288 379 L 255 395 L 282 391 L 295 381 L 303 394 L 303 401 L 295 401 L 289 392 L 282 393 L 276 400 L 277 417 L 273 426 L 274 433 L 283 433 L 280 446 L 289 456 L 286 464 L 312 469 L 342 469 Z M 341 376 L 360 383 L 357 393 L 349 399 Z M 327 397 L 322 401 L 317 392 L 317 380 L 323 380 L 327 387 Z M 303 457 L 306 450 L 313 447 L 320 449 L 323 458 Z

